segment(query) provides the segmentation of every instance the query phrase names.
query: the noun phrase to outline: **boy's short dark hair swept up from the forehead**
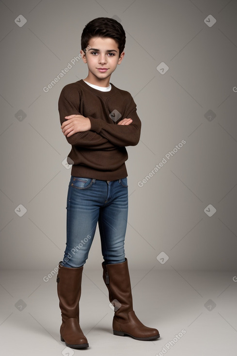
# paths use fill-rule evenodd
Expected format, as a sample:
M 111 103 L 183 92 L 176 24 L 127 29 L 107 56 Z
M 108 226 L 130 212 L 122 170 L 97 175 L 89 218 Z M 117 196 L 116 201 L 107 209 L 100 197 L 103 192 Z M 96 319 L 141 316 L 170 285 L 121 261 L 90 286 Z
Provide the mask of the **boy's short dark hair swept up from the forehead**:
M 126 34 L 124 28 L 114 18 L 97 17 L 86 24 L 81 33 L 81 49 L 84 52 L 92 37 L 113 38 L 118 44 L 119 55 L 125 48 Z

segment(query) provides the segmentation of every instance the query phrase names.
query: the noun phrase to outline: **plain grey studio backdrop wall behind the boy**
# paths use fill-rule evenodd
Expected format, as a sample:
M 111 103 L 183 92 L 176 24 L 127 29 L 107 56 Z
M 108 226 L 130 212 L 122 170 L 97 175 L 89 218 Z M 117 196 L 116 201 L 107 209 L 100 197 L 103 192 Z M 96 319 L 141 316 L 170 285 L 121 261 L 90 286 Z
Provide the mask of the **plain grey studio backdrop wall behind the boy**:
M 111 82 L 142 120 L 128 147 L 129 264 L 235 270 L 237 1 L 3 0 L 0 14 L 0 266 L 51 271 L 63 257 L 70 145 L 58 97 L 87 76 L 84 25 L 108 16 L 126 31 Z M 87 266 L 101 262 L 96 231 Z

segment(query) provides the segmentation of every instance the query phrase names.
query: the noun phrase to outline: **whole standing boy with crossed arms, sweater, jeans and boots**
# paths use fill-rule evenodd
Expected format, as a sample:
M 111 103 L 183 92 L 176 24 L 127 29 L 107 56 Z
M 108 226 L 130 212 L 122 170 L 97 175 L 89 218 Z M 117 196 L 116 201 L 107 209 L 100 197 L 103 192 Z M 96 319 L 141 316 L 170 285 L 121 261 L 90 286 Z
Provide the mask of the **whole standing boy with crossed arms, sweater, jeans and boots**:
M 79 326 L 83 265 L 98 222 L 103 279 L 114 305 L 113 334 L 136 340 L 158 339 L 157 329 L 144 326 L 132 307 L 124 252 L 127 223 L 125 146 L 140 139 L 141 121 L 131 95 L 110 83 L 124 58 L 126 35 L 108 17 L 90 21 L 81 35 L 82 60 L 88 76 L 64 86 L 59 97 L 61 129 L 72 146 L 73 163 L 67 195 L 67 241 L 59 263 L 57 290 L 62 312 L 61 340 L 72 348 L 88 347 Z

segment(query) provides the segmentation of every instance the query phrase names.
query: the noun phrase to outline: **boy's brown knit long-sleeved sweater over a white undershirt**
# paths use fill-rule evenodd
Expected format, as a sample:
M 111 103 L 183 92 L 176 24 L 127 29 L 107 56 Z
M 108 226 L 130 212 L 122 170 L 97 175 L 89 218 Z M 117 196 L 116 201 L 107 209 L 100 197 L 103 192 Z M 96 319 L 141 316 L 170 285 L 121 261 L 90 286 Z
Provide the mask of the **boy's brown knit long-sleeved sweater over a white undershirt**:
M 116 180 L 127 176 L 125 146 L 138 144 L 141 121 L 131 95 L 111 84 L 109 92 L 94 89 L 83 80 L 67 84 L 59 97 L 60 122 L 80 114 L 89 117 L 91 129 L 66 137 L 72 145 L 68 157 L 74 162 L 71 174 L 76 177 Z M 121 117 L 120 117 L 121 115 Z M 117 125 L 131 118 L 130 125 Z M 116 121 L 117 120 L 117 121 Z

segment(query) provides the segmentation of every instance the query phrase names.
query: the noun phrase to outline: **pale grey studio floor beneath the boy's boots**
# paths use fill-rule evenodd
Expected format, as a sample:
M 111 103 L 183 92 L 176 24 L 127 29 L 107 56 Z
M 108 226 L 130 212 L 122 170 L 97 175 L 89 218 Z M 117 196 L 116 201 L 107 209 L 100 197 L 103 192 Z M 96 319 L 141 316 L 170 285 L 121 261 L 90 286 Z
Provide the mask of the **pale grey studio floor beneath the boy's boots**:
M 1 355 L 205 356 L 237 355 L 237 273 L 130 270 L 133 304 L 160 338 L 138 341 L 112 334 L 113 310 L 100 270 L 84 267 L 80 325 L 89 348 L 60 341 L 56 275 L 2 271 Z

